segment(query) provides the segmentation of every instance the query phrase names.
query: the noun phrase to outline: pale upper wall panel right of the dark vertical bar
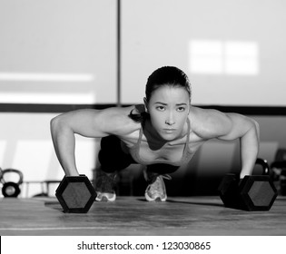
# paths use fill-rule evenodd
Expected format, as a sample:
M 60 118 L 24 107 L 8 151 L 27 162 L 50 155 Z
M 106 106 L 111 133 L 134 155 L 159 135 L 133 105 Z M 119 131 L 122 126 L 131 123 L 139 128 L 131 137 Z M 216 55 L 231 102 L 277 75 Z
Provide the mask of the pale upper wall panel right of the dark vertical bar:
M 163 65 L 188 73 L 192 103 L 285 106 L 281 0 L 123 0 L 122 98 L 142 102 Z

